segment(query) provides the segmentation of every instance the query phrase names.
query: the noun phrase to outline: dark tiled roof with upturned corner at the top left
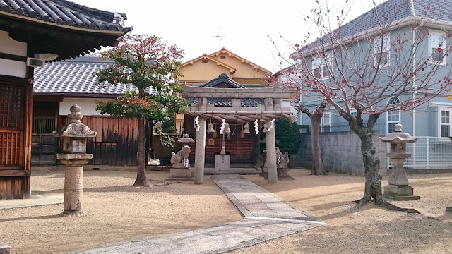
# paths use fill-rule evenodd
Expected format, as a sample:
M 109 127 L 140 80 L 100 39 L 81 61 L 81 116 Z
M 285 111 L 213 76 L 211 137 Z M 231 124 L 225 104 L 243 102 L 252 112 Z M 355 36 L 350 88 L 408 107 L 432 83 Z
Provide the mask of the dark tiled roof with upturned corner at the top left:
M 119 24 L 126 19 L 125 13 L 100 11 L 66 0 L 0 0 L 0 15 L 2 12 L 16 18 L 32 18 L 52 25 L 86 30 L 132 30 Z

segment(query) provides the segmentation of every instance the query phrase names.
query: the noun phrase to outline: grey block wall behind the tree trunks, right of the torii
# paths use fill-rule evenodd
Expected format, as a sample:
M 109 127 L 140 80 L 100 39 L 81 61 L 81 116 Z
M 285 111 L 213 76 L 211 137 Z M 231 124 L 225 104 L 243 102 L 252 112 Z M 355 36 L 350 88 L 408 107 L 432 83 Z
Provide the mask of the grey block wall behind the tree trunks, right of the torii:
M 302 135 L 302 147 L 297 155 L 290 157 L 291 167 L 312 168 L 311 134 Z M 380 158 L 380 171 L 386 174 L 386 143 L 380 141 L 374 133 L 374 143 Z M 330 172 L 364 176 L 362 162 L 361 141 L 352 132 L 333 132 L 320 134 L 321 154 L 323 165 Z

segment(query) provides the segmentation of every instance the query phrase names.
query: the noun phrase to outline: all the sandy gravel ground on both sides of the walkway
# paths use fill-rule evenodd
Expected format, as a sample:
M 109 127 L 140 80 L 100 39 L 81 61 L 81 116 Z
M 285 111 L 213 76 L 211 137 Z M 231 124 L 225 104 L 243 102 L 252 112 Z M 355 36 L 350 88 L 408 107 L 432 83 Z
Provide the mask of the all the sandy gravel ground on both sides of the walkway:
M 59 217 L 62 205 L 0 210 L 0 241 L 18 253 L 64 253 L 131 238 L 232 222 L 242 215 L 205 176 L 204 184 L 164 184 L 168 172 L 150 171 L 150 188 L 133 187 L 135 172 L 85 171 L 85 217 Z M 364 178 L 309 176 L 268 184 L 247 179 L 320 217 L 327 226 L 232 253 L 452 253 L 452 174 L 409 175 L 420 200 L 393 201 L 422 214 L 406 214 L 352 200 L 362 197 Z M 386 185 L 387 179 L 383 179 Z M 33 171 L 32 192 L 62 194 L 63 171 Z

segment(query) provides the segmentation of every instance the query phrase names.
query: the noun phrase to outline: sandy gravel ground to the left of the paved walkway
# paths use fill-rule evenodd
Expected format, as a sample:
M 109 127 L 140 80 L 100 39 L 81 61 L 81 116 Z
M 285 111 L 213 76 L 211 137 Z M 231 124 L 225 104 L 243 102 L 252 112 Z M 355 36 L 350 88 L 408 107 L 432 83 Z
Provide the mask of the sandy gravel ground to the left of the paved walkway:
M 169 172 L 150 171 L 150 188 L 134 187 L 136 172 L 85 171 L 84 217 L 59 217 L 63 205 L 0 210 L 0 241 L 18 253 L 64 253 L 131 238 L 242 219 L 209 176 L 204 184 L 162 185 Z M 159 183 L 160 181 L 160 183 Z M 62 194 L 64 171 L 33 171 L 32 193 Z

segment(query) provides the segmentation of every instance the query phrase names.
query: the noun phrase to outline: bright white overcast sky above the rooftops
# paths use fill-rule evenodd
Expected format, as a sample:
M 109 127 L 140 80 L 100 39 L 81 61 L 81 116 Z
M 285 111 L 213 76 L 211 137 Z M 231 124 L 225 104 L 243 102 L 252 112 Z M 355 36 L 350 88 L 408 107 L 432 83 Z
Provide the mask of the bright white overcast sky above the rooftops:
M 267 35 L 278 39 L 281 52 L 292 52 L 279 39 L 282 34 L 292 44 L 299 43 L 309 30 L 304 17 L 315 0 L 72 0 L 77 4 L 112 12 L 126 13 L 124 26 L 133 25 L 133 33 L 161 37 L 166 44 L 184 49 L 182 61 L 210 54 L 225 47 L 269 71 L 278 71 L 277 52 Z M 322 0 L 319 0 L 322 1 Z M 329 0 L 333 11 L 340 11 L 346 0 Z M 376 0 L 377 4 L 381 0 Z M 373 4 L 371 0 L 350 0 L 352 20 Z M 221 39 L 219 47 L 218 37 Z

